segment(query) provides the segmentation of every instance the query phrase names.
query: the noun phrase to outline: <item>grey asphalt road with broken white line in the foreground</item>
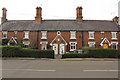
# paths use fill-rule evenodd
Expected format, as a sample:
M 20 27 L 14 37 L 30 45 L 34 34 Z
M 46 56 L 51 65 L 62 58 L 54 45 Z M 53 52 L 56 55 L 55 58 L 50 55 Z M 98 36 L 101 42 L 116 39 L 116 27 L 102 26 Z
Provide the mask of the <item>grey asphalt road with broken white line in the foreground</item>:
M 4 78 L 117 78 L 118 61 L 3 60 Z

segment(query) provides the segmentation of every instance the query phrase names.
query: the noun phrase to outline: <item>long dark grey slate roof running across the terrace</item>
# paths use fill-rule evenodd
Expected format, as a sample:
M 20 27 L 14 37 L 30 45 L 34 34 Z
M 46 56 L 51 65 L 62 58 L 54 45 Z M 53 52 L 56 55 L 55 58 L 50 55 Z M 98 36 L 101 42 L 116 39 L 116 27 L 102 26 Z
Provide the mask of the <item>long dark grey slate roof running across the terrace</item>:
M 107 20 L 43 20 L 36 23 L 34 20 L 8 20 L 0 27 L 3 31 L 118 31 L 113 21 Z

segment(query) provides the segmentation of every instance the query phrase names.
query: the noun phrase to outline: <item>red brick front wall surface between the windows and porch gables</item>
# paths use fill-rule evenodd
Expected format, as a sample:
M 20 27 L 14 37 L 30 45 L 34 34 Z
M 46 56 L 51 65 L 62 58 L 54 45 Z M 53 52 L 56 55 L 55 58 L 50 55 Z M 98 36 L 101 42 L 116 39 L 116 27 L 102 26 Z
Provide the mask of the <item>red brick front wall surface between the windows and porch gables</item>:
M 42 33 L 39 32 L 39 41 L 38 41 L 38 47 L 41 49 L 40 42 L 41 41 L 48 41 L 48 44 L 52 42 L 52 40 L 57 36 L 57 31 L 48 31 L 47 32 L 47 39 L 41 39 Z M 76 39 L 70 39 L 70 31 L 61 31 L 61 36 L 64 38 L 64 40 L 68 44 L 68 50 L 70 49 L 69 42 L 70 41 L 75 41 L 77 42 L 77 49 L 82 48 L 82 32 L 81 31 L 76 31 Z M 7 33 L 7 38 L 11 39 L 11 37 L 14 37 L 14 32 L 8 32 Z M 94 33 L 94 40 L 89 39 L 89 33 L 85 31 L 83 33 L 83 39 L 84 39 L 84 46 L 88 46 L 89 41 L 95 41 L 96 45 L 95 47 L 98 48 L 99 44 L 101 42 L 101 32 L 95 32 Z M 111 40 L 112 38 L 112 33 L 111 32 L 104 32 L 104 37 L 106 37 L 109 42 L 111 41 L 118 41 L 118 40 Z M 20 40 L 24 41 L 24 31 L 23 32 L 17 32 L 17 41 L 19 42 Z M 118 38 L 118 33 L 117 33 L 117 38 Z M 31 46 L 36 46 L 37 47 L 37 32 L 29 32 L 29 39 L 30 45 Z M 119 42 L 120 42 L 120 35 L 119 35 Z M 120 44 L 120 43 L 119 43 Z M 120 46 L 118 46 L 120 50 Z

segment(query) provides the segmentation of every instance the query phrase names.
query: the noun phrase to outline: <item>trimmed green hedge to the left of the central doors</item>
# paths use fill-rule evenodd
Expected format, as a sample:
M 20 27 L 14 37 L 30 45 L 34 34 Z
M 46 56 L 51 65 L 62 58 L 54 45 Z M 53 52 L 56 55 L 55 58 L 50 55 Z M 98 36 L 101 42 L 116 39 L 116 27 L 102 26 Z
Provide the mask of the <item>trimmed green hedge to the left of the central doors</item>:
M 54 51 L 2 46 L 2 57 L 54 58 Z

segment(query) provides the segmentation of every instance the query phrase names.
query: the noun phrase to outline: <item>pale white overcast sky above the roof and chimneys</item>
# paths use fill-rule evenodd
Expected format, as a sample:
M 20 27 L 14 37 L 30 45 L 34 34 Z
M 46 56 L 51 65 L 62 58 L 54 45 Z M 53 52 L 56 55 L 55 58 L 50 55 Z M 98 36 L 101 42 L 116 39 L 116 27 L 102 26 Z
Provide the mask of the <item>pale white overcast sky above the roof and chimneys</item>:
M 0 0 L 2 8 L 7 8 L 8 20 L 34 20 L 36 7 L 42 7 L 44 19 L 76 19 L 76 7 L 83 7 L 85 20 L 112 20 L 118 15 L 120 0 Z

